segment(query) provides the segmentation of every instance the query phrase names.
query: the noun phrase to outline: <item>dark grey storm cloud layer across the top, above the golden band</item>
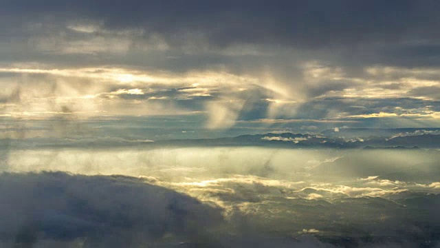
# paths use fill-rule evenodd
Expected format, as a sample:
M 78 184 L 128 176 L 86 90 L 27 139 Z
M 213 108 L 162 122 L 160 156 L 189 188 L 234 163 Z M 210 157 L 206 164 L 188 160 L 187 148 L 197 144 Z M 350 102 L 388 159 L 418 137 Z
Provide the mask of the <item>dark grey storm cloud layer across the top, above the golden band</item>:
M 246 68 L 243 62 L 249 65 L 254 59 L 252 56 L 244 60 L 241 56 L 237 61 L 230 56 L 212 53 L 215 49 L 237 44 L 263 45 L 272 50 L 276 50 L 279 45 L 299 49 L 318 48 L 321 52 L 303 59 L 333 61 L 350 68 L 349 71 L 353 73 L 362 65 L 433 66 L 438 65 L 439 61 L 440 34 L 437 29 L 440 25 L 440 3 L 434 0 L 283 0 L 271 3 L 249 0 L 21 0 L 3 1 L 0 12 L 1 25 L 5 30 L 0 39 L 9 48 L 2 52 L 4 61 L 60 59 L 52 47 L 43 53 L 36 52 L 35 48 L 39 45 L 29 40 L 53 34 L 67 41 L 98 42 L 94 40 L 96 37 L 104 37 L 106 42 L 101 41 L 99 49 L 107 45 L 109 51 L 114 52 L 120 48 L 110 44 L 107 32 L 123 30 L 142 30 L 131 34 L 131 40 L 126 43 L 129 50 L 135 49 L 140 40 L 150 40 L 157 35 L 167 44 L 168 52 L 149 52 L 149 57 L 155 58 L 154 63 L 148 63 L 144 54 L 139 52 L 129 52 L 130 59 L 108 54 L 105 56 L 107 63 L 162 65 L 174 70 L 209 68 L 209 65 L 231 63 L 234 66 L 230 68 Z M 98 23 L 99 28 L 90 30 L 91 33 L 66 29 L 72 22 Z M 43 43 L 58 46 L 66 44 L 53 40 Z M 181 50 L 188 45 L 192 46 L 192 52 L 197 51 L 199 54 L 188 56 Z M 82 52 L 91 49 L 84 44 L 81 46 L 76 43 L 73 46 L 82 47 Z M 91 59 L 91 54 L 76 54 L 65 63 L 76 61 L 93 64 L 100 61 Z

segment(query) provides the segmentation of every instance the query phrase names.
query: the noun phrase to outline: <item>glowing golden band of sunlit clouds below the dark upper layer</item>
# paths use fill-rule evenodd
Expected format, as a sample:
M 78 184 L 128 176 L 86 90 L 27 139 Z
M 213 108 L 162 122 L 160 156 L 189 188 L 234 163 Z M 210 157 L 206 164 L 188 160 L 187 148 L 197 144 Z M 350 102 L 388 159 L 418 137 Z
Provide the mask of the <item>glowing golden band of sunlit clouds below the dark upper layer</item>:
M 373 67 L 366 68 L 365 72 L 373 77 L 351 76 L 338 66 L 311 61 L 303 64 L 303 74 L 299 78 L 287 82 L 286 79 L 281 79 L 272 73 L 269 68 L 254 74 L 234 74 L 227 70 L 191 70 L 177 73 L 115 67 L 60 69 L 38 63 L 14 64 L 14 67 L 0 68 L 0 73 L 14 74 L 16 78 L 17 76 L 21 78 L 21 81 L 26 81 L 27 86 L 21 87 L 23 83 L 19 82 L 10 83 L 8 86 L 10 96 L 14 89 L 20 89 L 19 101 L 13 105 L 3 104 L 1 114 L 45 118 L 56 114 L 75 114 L 80 117 L 102 113 L 119 115 L 126 112 L 137 116 L 203 112 L 208 117 L 206 127 L 224 129 L 233 127 L 236 121 L 240 121 L 241 114 L 252 110 L 252 105 L 257 107 L 266 105 L 265 110 L 256 118 L 261 120 L 304 114 L 298 112 L 303 105 L 320 99 L 375 101 L 375 99 L 399 99 L 410 96 L 411 99 L 433 101 L 437 97 L 435 94 L 412 94 L 413 91 L 423 87 L 438 87 L 440 83 L 437 79 L 429 79 L 424 74 L 437 75 L 437 70 Z M 403 76 L 399 77 L 396 83 L 391 77 L 397 74 Z M 35 75 L 45 76 L 47 81 L 54 83 L 52 86 L 44 83 L 42 80 L 45 79 L 38 79 L 40 83 L 34 83 L 37 80 L 33 78 Z M 351 83 L 344 85 L 340 84 L 340 81 Z M 325 90 L 320 90 L 322 88 Z M 314 93 L 315 91 L 318 93 Z M 202 101 L 200 105 L 203 107 L 188 110 L 181 105 L 183 101 L 192 101 L 196 98 Z M 131 105 L 137 105 L 137 111 Z M 69 106 L 71 110 L 69 113 L 63 112 L 65 106 Z M 439 116 L 438 111 L 397 107 L 402 109 L 396 108 L 396 112 L 377 111 L 369 114 L 338 112 L 333 108 L 329 109 L 326 116 L 314 120 L 384 117 L 435 120 Z M 283 123 L 283 120 L 274 123 Z

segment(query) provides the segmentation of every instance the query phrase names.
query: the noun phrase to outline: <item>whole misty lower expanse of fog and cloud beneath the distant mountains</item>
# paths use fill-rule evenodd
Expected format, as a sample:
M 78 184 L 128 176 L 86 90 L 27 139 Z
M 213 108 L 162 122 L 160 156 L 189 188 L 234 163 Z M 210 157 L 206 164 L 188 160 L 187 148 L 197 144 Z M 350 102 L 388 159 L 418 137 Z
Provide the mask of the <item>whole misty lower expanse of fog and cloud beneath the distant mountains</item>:
M 96 247 L 106 237 L 107 247 L 435 247 L 440 239 L 434 150 L 23 149 L 2 161 L 3 245 Z

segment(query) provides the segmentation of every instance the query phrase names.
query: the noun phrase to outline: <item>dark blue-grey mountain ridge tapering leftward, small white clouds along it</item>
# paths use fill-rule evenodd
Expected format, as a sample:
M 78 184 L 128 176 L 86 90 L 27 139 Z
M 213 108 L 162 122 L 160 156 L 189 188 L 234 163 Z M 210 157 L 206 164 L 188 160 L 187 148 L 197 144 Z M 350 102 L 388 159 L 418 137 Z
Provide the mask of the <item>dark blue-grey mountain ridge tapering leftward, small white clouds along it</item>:
M 267 146 L 304 148 L 417 149 L 440 148 L 440 128 L 326 130 L 319 134 L 241 135 L 232 138 L 203 138 L 161 141 L 157 144 L 189 146 Z

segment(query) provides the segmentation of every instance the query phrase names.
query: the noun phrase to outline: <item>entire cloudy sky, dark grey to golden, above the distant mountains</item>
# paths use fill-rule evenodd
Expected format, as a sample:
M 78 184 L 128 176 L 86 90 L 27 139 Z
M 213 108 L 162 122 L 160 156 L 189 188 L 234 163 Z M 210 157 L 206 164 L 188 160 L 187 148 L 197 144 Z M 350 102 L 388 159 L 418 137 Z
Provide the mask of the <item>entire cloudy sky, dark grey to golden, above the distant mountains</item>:
M 3 126 L 134 118 L 173 137 L 439 126 L 438 1 L 0 6 Z

